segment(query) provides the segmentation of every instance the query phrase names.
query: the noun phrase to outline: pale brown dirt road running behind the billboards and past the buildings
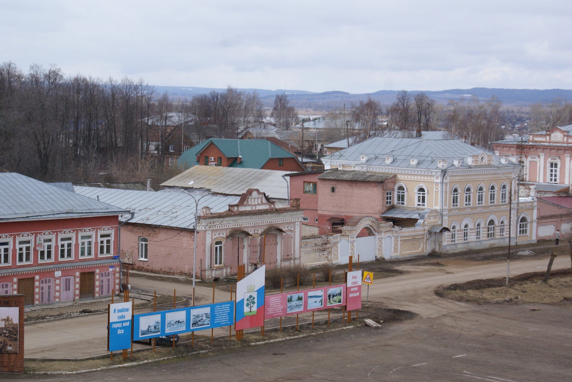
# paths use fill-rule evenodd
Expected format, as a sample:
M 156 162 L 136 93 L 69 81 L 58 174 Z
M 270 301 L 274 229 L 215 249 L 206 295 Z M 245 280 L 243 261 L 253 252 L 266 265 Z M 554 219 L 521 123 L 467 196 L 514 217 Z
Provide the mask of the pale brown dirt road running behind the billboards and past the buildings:
M 464 282 L 479 278 L 503 276 L 506 263 L 498 261 L 475 262 L 472 260 L 447 260 L 442 258 L 442 266 L 407 265 L 398 268 L 408 271 L 407 274 L 382 280 L 375 280 L 370 287 L 370 300 L 383 301 L 393 308 L 407 309 L 418 313 L 421 317 L 432 318 L 467 310 L 468 304 L 440 299 L 433 293 L 434 288 L 442 284 Z M 547 257 L 521 258 L 511 262 L 511 275 L 546 269 Z M 553 269 L 570 267 L 570 259 L 558 257 Z M 362 264 L 367 270 L 367 263 Z M 191 296 L 192 286 L 184 283 L 157 280 L 142 276 L 131 277 L 132 288 L 142 291 Z M 226 299 L 218 293 L 221 301 Z M 204 299 L 204 302 L 198 299 Z M 197 288 L 197 300 L 205 303 L 212 299 L 212 289 Z M 106 352 L 106 315 L 73 317 L 38 324 L 28 324 L 25 330 L 27 357 L 84 357 Z M 134 347 L 142 345 L 135 344 Z

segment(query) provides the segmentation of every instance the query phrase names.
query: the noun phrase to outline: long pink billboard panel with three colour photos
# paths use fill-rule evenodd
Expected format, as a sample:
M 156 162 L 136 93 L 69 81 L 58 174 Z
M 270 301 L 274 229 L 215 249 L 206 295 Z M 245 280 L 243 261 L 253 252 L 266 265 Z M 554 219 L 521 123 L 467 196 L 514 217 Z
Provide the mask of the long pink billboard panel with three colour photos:
M 268 295 L 264 299 L 264 318 L 295 315 L 345 305 L 345 284 Z

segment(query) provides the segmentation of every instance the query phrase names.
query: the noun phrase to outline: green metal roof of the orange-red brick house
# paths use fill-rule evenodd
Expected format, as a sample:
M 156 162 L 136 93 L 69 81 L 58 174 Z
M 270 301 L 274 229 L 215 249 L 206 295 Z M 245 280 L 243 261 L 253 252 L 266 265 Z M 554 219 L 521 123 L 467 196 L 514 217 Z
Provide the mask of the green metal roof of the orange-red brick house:
M 236 159 L 233 160 L 229 167 L 262 168 L 264 164 L 268 162 L 268 159 L 271 158 L 296 158 L 288 151 L 266 139 L 210 138 L 183 152 L 177 160 L 178 164 L 184 168 L 190 168 L 196 164 L 200 164 L 197 162 L 197 155 L 211 142 L 215 144 L 227 158 L 243 157 L 240 163 L 237 163 Z

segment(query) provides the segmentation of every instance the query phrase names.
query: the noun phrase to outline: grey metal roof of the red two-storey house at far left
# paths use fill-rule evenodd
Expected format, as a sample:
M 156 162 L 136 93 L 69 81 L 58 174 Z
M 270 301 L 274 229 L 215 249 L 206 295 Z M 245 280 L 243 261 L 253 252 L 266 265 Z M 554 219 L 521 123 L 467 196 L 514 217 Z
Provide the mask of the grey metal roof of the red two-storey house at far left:
M 17 172 L 0 172 L 0 222 L 120 215 L 122 208 L 98 202 Z

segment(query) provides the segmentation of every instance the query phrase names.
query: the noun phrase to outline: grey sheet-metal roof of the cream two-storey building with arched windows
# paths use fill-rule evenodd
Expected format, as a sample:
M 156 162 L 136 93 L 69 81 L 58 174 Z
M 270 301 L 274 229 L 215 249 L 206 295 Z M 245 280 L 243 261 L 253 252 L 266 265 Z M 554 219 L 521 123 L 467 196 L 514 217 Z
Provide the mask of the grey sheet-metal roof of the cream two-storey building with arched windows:
M 371 138 L 344 150 L 324 156 L 322 161 L 347 160 L 363 163 L 367 166 L 439 168 L 439 159 L 448 159 L 448 167 L 453 166 L 454 159 L 459 159 L 460 166 L 471 167 L 467 163 L 467 156 L 479 155 L 482 152 L 489 155 L 492 154 L 492 152 L 482 147 L 471 146 L 456 139 Z M 366 162 L 360 161 L 362 155 L 367 155 Z M 392 156 L 393 160 L 391 163 L 386 163 L 386 156 Z M 418 159 L 418 163 L 411 166 L 411 158 Z M 490 166 L 515 166 L 515 164 L 511 163 L 502 164 L 498 156 L 493 156 L 493 158 L 493 163 Z

